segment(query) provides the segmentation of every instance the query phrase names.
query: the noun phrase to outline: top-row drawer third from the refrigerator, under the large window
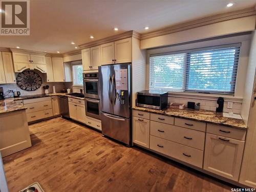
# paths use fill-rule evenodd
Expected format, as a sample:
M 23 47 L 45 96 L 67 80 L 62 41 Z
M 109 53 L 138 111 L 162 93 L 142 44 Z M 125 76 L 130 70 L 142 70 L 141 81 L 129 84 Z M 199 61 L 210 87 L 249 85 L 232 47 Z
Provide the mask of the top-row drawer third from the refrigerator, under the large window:
M 188 128 L 188 129 L 198 130 L 198 131 L 202 131 L 202 132 L 205 132 L 205 130 L 206 130 L 206 123 L 199 122 L 199 121 L 175 118 L 174 124 L 177 126 L 182 126 L 182 127 Z

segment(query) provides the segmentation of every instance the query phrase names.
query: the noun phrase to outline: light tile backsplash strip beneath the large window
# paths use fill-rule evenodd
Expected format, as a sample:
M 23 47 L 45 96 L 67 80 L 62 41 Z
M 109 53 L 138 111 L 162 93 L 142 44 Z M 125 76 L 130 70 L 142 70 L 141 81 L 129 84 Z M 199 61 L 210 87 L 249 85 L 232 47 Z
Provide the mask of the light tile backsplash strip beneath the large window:
M 187 107 L 187 102 L 195 102 L 200 103 L 200 109 L 201 110 L 209 110 L 209 111 L 216 111 L 216 108 L 218 106 L 217 99 L 198 99 L 198 98 L 183 98 L 183 97 L 168 97 L 168 102 L 177 102 L 177 103 L 184 103 Z M 227 109 L 227 101 L 225 101 L 224 98 L 224 106 L 223 106 L 223 112 L 229 113 L 233 112 L 234 114 L 241 114 L 241 108 L 242 108 L 242 102 L 233 102 L 232 109 Z

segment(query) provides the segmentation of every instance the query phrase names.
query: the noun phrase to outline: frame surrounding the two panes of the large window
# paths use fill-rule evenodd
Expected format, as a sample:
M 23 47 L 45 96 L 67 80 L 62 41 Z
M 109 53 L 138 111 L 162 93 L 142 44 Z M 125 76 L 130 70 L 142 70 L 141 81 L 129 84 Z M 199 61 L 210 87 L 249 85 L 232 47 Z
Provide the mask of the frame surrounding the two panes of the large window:
M 234 96 L 235 90 L 236 90 L 236 83 L 237 83 L 237 76 L 238 76 L 238 65 L 239 65 L 239 58 L 240 58 L 240 50 L 241 50 L 241 42 L 233 43 L 233 44 L 226 44 L 226 45 L 219 45 L 219 46 L 208 46 L 208 47 L 202 47 L 202 48 L 196 48 L 196 49 L 187 49 L 187 50 L 181 50 L 181 51 L 173 51 L 173 52 L 164 52 L 164 53 L 157 53 L 157 54 L 149 54 L 149 70 L 148 70 L 148 86 L 149 89 L 151 87 L 150 82 L 150 76 L 151 76 L 151 66 L 150 66 L 150 58 L 154 56 L 165 56 L 165 55 L 173 55 L 173 54 L 181 54 L 185 53 L 185 69 L 184 69 L 184 76 L 183 76 L 183 91 L 169 91 L 168 92 L 175 92 L 175 93 L 202 93 L 202 94 L 218 94 L 218 95 L 232 95 Z M 188 79 L 189 79 L 189 73 L 187 71 L 189 70 L 190 63 L 187 62 L 188 55 L 190 55 L 191 52 L 199 52 L 199 51 L 207 51 L 207 50 L 214 50 L 214 49 L 227 49 L 227 48 L 236 48 L 236 53 L 234 54 L 234 58 L 238 58 L 236 62 L 234 62 L 233 65 L 233 72 L 232 72 L 232 81 L 235 80 L 234 84 L 232 84 L 231 91 L 214 91 L 214 90 L 205 90 L 205 91 L 199 91 L 199 90 L 189 90 L 188 87 Z M 237 72 L 236 72 L 237 71 Z M 164 91 L 164 90 L 162 90 Z

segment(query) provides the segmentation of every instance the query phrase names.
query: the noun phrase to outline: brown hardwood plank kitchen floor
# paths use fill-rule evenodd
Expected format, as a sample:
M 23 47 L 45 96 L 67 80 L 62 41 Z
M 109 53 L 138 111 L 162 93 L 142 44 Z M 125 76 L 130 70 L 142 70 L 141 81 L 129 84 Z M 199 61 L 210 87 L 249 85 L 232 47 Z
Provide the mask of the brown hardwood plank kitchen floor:
M 230 191 L 233 187 L 62 118 L 29 129 L 32 147 L 3 159 L 11 192 L 34 182 L 45 192 Z

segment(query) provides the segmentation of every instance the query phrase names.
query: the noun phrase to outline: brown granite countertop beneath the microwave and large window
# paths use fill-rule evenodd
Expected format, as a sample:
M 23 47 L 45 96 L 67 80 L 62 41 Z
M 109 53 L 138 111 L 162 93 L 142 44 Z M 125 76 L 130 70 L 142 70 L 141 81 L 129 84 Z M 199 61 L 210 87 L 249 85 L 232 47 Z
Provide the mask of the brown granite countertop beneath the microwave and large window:
M 247 126 L 245 125 L 243 119 L 223 117 L 222 113 L 217 113 L 214 111 L 192 110 L 192 109 L 180 110 L 180 109 L 173 109 L 173 108 L 168 108 L 166 110 L 154 110 L 154 109 L 148 109 L 148 108 L 141 108 L 139 106 L 135 106 L 133 110 L 150 112 L 150 113 L 172 116 L 172 117 L 179 117 L 184 119 L 191 119 L 191 120 L 196 120 L 201 122 L 220 124 L 220 125 L 235 127 L 239 129 L 247 129 Z

